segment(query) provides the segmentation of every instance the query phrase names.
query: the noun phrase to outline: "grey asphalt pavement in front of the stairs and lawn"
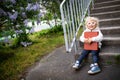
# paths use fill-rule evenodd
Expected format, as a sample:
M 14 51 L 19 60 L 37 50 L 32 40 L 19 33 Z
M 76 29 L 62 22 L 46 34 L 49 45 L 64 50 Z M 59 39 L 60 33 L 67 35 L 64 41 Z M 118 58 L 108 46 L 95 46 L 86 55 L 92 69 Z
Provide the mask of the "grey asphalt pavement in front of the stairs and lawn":
M 65 47 L 57 48 L 28 71 L 25 80 L 120 80 L 120 65 L 102 63 L 102 71 L 89 75 L 90 63 L 79 70 L 72 69 L 75 61 L 73 53 L 66 53 Z

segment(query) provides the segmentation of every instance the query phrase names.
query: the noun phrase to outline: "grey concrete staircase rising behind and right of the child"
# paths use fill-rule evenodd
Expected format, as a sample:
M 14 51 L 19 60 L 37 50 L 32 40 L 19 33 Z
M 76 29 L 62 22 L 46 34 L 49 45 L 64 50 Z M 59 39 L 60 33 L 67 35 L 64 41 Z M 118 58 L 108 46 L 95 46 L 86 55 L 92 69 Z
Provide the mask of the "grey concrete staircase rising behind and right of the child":
M 96 0 L 91 16 L 100 19 L 101 55 L 120 55 L 120 0 Z

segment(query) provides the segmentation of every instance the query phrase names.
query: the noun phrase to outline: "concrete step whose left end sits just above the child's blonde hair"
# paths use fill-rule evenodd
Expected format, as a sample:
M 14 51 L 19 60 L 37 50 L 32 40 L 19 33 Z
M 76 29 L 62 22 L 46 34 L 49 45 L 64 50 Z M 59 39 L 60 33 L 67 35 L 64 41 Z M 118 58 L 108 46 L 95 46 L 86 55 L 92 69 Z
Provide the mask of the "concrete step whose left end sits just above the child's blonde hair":
M 120 11 L 120 5 L 111 5 L 111 6 L 105 6 L 105 7 L 99 7 L 99 8 L 92 8 L 92 13 L 102 13 L 102 12 L 111 12 L 111 11 Z

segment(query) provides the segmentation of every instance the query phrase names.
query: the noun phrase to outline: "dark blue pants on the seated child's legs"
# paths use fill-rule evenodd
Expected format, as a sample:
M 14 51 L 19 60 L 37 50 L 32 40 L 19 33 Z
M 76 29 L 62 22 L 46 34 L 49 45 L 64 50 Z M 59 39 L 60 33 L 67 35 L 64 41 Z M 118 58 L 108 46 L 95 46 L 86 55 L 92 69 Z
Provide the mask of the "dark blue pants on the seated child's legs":
M 87 55 L 89 53 L 91 53 L 92 54 L 93 63 L 98 63 L 99 52 L 100 52 L 100 49 L 98 49 L 98 50 L 83 50 L 82 53 L 81 53 L 81 55 L 78 58 L 78 61 L 81 64 L 82 61 L 83 61 L 83 59 L 85 57 L 87 57 Z

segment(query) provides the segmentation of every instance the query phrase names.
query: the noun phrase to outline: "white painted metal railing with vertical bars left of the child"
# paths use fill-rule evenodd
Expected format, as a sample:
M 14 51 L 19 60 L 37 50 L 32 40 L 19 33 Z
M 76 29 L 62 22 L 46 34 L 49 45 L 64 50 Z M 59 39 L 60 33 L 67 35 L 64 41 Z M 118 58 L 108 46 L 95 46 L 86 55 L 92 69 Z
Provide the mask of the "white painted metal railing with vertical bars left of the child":
M 73 46 L 77 51 L 76 36 L 84 18 L 90 13 L 94 0 L 63 0 L 60 5 L 65 47 L 71 52 Z

